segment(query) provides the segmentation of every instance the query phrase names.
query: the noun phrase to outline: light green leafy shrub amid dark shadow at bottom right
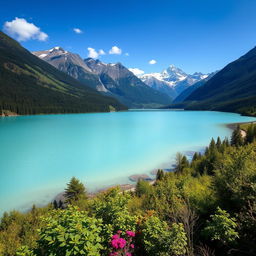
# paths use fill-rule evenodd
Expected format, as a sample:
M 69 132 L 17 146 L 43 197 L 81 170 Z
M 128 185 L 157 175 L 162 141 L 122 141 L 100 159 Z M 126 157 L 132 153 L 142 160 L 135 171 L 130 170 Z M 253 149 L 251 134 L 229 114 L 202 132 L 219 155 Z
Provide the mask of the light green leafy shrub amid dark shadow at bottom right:
M 210 217 L 203 232 L 212 241 L 217 240 L 226 245 L 239 237 L 236 219 L 231 218 L 228 212 L 217 207 L 216 213 Z

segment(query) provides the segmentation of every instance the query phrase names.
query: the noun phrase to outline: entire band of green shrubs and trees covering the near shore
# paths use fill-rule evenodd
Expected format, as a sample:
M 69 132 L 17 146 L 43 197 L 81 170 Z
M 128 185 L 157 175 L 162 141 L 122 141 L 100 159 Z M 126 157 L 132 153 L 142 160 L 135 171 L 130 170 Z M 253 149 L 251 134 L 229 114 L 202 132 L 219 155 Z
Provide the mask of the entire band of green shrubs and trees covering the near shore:
M 252 136 L 255 125 L 248 129 Z M 134 192 L 117 187 L 88 198 L 73 179 L 67 209 L 55 202 L 3 215 L 0 255 L 255 255 L 256 142 L 250 136 L 240 146 L 212 139 L 182 171 L 159 171 L 154 184 L 140 180 Z M 127 230 L 136 233 L 134 252 Z M 126 251 L 113 248 L 115 238 L 126 241 Z

